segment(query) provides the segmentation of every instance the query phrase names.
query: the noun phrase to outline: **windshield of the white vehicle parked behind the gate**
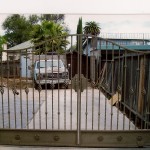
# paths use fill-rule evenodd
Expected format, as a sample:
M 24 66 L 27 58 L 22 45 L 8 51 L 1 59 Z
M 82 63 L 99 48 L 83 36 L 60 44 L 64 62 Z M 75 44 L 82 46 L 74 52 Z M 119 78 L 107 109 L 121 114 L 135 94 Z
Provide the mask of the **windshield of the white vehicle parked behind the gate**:
M 45 68 L 45 67 L 63 67 L 63 63 L 62 61 L 57 61 L 57 60 L 53 60 L 53 61 L 39 61 L 37 63 L 37 68 Z

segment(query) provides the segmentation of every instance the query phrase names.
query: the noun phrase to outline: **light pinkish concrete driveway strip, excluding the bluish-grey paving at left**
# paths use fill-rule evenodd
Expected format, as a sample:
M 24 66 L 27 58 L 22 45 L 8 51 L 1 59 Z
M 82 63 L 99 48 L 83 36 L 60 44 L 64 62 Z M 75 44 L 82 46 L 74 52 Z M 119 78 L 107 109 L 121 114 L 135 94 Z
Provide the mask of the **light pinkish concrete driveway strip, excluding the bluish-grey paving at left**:
M 74 90 L 42 90 L 40 100 L 44 103 L 31 120 L 29 128 L 32 129 L 35 122 L 36 129 L 77 129 L 77 93 Z M 81 129 L 123 128 L 135 129 L 135 126 L 115 106 L 111 106 L 98 89 L 88 88 L 81 93 Z

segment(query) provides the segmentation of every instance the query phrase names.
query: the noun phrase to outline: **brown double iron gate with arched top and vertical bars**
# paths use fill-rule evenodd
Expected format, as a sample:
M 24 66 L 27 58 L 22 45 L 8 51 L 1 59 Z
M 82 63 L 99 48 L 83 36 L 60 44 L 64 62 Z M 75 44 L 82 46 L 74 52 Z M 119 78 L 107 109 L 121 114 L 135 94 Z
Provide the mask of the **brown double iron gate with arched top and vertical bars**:
M 0 144 L 150 146 L 150 53 L 59 38 L 1 52 Z

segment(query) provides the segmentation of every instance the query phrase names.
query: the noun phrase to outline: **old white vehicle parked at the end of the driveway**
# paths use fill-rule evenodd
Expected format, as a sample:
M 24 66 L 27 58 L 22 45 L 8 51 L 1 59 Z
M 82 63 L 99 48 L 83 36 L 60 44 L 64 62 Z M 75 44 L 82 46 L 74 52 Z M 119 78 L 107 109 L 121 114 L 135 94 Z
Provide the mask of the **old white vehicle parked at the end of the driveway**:
M 34 87 L 42 89 L 45 85 L 54 88 L 55 85 L 68 88 L 69 72 L 62 60 L 38 60 L 34 63 Z

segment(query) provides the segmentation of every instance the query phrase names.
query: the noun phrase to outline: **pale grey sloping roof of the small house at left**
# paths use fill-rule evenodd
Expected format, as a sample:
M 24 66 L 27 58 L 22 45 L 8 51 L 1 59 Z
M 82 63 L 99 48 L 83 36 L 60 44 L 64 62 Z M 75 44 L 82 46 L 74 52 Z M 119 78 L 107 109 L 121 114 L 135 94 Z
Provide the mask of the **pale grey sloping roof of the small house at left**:
M 31 42 L 31 40 L 23 42 L 21 44 L 18 44 L 16 46 L 13 46 L 11 48 L 9 48 L 8 50 L 20 50 L 20 49 L 27 49 L 34 46 L 34 44 Z

